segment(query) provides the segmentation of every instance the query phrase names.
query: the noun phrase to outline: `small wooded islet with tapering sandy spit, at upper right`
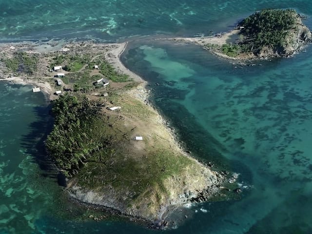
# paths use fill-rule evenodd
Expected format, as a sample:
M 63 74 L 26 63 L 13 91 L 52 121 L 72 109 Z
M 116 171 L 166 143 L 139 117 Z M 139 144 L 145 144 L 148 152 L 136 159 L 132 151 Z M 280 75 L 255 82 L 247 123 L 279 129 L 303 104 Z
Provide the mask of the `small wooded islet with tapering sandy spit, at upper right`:
M 213 37 L 187 38 L 227 59 L 289 57 L 311 42 L 312 34 L 293 9 L 265 9 L 241 20 L 236 28 Z

